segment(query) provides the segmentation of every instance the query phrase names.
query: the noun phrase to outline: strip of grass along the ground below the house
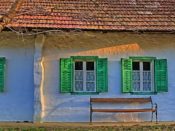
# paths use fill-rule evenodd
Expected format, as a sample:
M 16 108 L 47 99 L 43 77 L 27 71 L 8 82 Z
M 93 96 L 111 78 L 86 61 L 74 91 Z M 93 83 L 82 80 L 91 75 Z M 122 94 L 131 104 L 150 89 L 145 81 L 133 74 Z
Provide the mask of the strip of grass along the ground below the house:
M 175 131 L 175 126 L 0 127 L 0 131 Z

